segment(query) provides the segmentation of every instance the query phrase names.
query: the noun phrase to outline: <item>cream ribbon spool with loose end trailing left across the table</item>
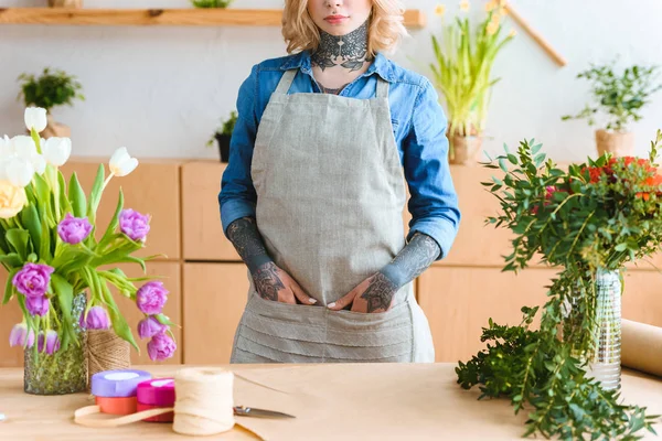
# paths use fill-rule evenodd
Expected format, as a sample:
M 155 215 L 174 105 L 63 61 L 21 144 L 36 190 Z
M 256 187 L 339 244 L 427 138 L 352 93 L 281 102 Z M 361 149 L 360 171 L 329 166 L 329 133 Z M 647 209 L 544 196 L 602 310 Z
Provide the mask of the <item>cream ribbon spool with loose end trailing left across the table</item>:
M 145 410 L 114 419 L 86 418 L 99 406 L 74 412 L 77 424 L 105 428 L 129 424 L 174 411 L 172 429 L 181 434 L 209 435 L 228 431 L 235 424 L 233 410 L 234 375 L 221 368 L 184 368 L 174 375 L 174 407 Z M 163 391 L 160 391 L 159 395 Z

